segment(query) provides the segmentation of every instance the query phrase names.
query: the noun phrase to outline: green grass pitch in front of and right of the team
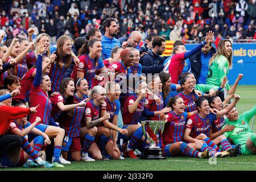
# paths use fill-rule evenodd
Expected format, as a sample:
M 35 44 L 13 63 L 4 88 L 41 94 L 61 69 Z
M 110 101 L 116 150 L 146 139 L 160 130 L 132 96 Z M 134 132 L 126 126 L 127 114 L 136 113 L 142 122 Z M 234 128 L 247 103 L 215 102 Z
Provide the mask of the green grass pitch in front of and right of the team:
M 243 113 L 256 104 L 256 86 L 238 86 L 237 94 L 241 96 L 240 102 L 237 104 L 238 111 Z M 255 121 L 256 122 L 256 121 Z M 256 132 L 256 123 L 253 126 Z M 65 165 L 64 168 L 35 168 L 26 169 L 22 167 L 0 169 L 4 171 L 166 171 L 166 170 L 209 170 L 209 171 L 256 171 L 256 155 L 254 156 L 238 156 L 236 158 L 217 159 L 217 163 L 209 163 L 208 159 L 196 159 L 188 157 L 167 158 L 166 160 L 109 160 L 96 161 L 93 163 L 72 162 L 71 165 Z

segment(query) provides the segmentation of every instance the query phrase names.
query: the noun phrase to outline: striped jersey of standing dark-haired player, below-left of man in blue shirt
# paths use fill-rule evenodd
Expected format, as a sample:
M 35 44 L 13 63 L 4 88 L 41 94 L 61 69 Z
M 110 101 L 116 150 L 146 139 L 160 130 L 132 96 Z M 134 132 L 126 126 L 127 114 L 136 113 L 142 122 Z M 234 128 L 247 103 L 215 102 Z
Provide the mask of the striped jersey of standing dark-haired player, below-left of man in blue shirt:
M 73 72 L 71 74 L 71 78 L 74 80 L 77 78 L 77 72 L 84 73 L 84 78 L 88 82 L 89 89 L 92 86 L 92 81 L 96 75 L 96 72 L 100 68 L 104 68 L 104 63 L 101 59 L 96 61 L 90 59 L 89 55 L 82 55 L 79 57 L 80 64 L 78 66 L 75 65 Z

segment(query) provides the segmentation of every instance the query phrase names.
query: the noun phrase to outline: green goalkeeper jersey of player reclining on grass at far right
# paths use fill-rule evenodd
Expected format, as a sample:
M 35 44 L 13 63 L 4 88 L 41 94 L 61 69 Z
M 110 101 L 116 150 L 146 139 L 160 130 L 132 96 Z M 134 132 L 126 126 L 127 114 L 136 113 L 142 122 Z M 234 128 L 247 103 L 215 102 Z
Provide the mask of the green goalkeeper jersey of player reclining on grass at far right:
M 240 143 L 241 145 L 246 144 L 247 139 L 253 133 L 253 131 L 251 131 L 251 128 L 249 126 L 249 122 L 250 122 L 250 119 L 255 114 L 256 114 L 256 105 L 253 107 L 253 109 L 241 114 L 239 116 L 239 119 L 237 119 L 237 121 L 229 121 L 229 119 L 225 119 L 225 125 L 222 126 L 222 128 L 225 127 L 226 125 L 234 125 L 235 128 L 233 131 L 225 132 L 224 135 L 227 138 L 232 139 L 234 144 L 238 144 L 238 143 Z

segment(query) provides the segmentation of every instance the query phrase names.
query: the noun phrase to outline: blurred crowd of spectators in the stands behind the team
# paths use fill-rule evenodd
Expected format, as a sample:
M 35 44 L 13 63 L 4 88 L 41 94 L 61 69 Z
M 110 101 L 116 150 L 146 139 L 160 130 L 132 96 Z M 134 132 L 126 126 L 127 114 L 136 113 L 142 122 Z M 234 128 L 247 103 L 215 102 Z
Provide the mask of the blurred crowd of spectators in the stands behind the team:
M 125 3 L 122 3 L 125 2 Z M 45 3 L 46 16 L 40 3 Z M 216 3 L 215 16 L 209 16 L 210 3 Z M 118 22 L 117 38 L 138 30 L 142 40 L 151 32 L 166 40 L 194 40 L 196 43 L 209 30 L 216 38 L 255 39 L 256 3 L 245 1 L 1 1 L 0 28 L 7 39 L 26 37 L 28 27 L 35 36 L 47 33 L 51 42 L 61 35 L 73 39 L 96 27 L 104 34 L 102 22 L 113 17 Z

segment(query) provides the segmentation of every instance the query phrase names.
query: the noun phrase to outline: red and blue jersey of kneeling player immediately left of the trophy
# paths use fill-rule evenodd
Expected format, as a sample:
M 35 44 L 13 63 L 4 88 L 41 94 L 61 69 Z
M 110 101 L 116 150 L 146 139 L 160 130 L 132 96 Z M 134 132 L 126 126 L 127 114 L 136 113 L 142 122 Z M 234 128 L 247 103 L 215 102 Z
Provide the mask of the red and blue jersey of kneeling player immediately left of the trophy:
M 139 121 L 142 119 L 142 112 L 144 110 L 144 102 L 146 101 L 146 98 L 143 98 L 141 101 L 139 101 L 139 105 L 134 113 L 129 113 L 128 106 L 134 104 L 134 102 L 137 100 L 137 95 L 133 94 L 130 96 L 123 106 L 123 125 L 137 125 Z

